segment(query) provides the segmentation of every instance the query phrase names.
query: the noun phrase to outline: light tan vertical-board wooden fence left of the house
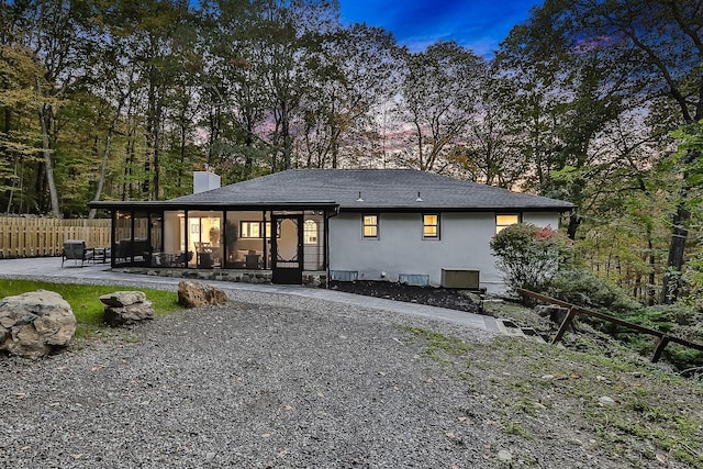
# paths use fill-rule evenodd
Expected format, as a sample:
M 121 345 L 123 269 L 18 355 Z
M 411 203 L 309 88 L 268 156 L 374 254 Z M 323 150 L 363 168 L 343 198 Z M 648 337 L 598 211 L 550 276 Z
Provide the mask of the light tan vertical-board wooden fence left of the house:
M 0 259 L 60 256 L 66 239 L 88 247 L 110 246 L 110 220 L 0 216 Z

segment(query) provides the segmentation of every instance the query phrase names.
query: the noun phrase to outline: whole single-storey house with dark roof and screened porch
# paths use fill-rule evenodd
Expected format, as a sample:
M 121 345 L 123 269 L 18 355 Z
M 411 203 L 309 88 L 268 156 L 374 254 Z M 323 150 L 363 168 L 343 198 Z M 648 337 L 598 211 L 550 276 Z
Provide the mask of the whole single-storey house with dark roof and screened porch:
M 410 169 L 287 170 L 167 201 L 89 205 L 112 213 L 113 268 L 489 291 L 502 289 L 491 237 L 517 222 L 557 227 L 573 206 Z

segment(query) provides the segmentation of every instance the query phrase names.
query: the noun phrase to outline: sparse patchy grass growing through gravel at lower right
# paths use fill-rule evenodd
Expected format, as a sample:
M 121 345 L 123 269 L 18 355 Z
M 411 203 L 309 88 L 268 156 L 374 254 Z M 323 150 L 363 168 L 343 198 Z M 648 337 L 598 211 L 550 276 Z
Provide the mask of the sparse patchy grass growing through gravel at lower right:
M 424 356 L 467 383 L 468 395 L 481 403 L 476 420 L 500 422 L 517 454 L 559 439 L 624 467 L 649 466 L 655 458 L 703 467 L 703 387 L 663 365 L 617 350 L 609 356 L 602 345 L 574 350 L 513 337 L 471 345 L 406 331 Z

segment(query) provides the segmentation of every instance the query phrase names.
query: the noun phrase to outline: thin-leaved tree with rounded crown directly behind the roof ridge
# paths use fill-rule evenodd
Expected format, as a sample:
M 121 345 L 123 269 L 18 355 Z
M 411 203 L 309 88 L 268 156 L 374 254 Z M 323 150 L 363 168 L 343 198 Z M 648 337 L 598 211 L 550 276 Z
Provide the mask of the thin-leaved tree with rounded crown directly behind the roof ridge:
M 337 168 L 359 157 L 376 107 L 392 98 L 397 45 L 379 27 L 353 24 L 312 42 L 303 101 L 305 166 Z

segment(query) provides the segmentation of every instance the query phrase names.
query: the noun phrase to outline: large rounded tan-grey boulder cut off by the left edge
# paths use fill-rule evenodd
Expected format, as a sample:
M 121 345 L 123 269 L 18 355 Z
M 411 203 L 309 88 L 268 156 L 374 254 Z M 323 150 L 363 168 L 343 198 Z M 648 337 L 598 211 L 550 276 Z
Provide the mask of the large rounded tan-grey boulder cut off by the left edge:
M 0 350 L 45 357 L 76 333 L 70 304 L 54 291 L 37 290 L 0 300 Z

